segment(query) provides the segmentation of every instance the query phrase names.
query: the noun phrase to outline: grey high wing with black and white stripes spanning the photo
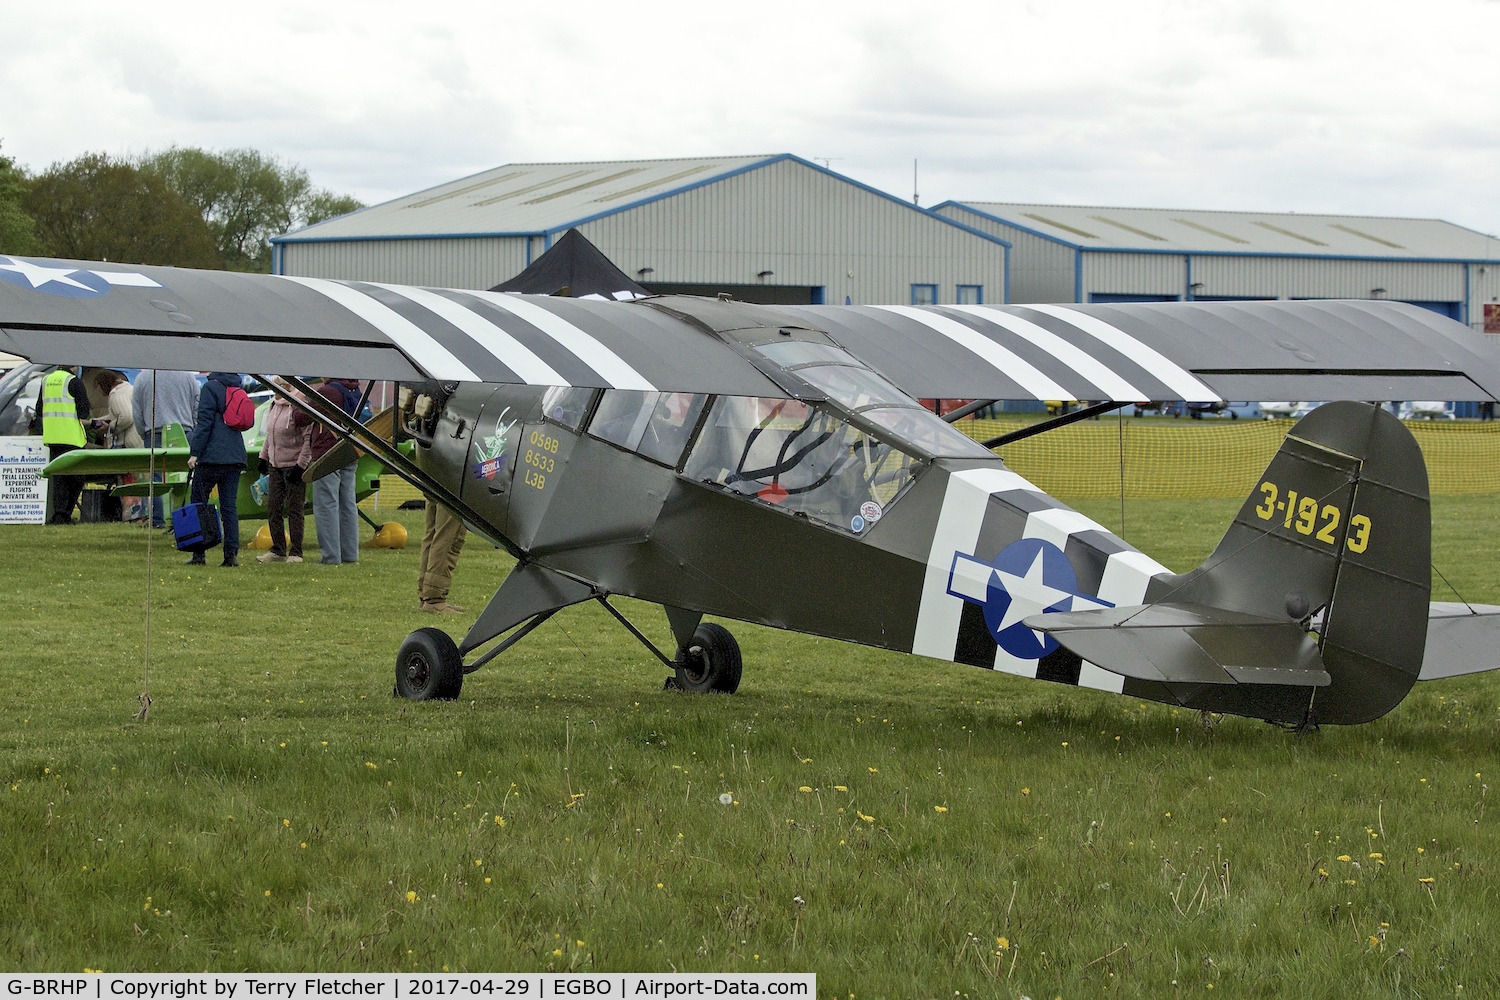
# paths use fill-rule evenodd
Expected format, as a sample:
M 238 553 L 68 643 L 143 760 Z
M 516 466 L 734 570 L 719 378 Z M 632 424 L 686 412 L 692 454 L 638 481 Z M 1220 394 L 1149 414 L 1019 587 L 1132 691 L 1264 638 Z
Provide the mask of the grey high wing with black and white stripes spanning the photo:
M 1500 352 L 1389 301 L 632 303 L 0 256 L 33 361 L 786 396 L 748 331 L 826 331 L 916 397 L 1500 397 Z

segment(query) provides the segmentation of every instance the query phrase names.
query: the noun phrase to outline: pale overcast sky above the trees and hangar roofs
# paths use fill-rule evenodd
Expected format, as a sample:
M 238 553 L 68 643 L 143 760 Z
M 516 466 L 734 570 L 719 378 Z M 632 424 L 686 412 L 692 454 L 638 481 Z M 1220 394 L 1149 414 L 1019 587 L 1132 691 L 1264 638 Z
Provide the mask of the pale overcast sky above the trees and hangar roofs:
M 910 196 L 1500 232 L 1500 0 L 0 9 L 0 151 L 249 145 L 374 202 L 506 162 L 790 151 Z

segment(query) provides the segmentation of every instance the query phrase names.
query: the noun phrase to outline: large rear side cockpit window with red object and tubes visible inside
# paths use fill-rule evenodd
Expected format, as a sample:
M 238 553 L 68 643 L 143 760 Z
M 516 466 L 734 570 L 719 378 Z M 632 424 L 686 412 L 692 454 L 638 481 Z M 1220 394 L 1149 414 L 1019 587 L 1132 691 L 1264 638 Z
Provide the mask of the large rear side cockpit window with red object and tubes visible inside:
M 860 534 L 906 489 L 916 466 L 912 456 L 826 408 L 720 396 L 682 474 Z

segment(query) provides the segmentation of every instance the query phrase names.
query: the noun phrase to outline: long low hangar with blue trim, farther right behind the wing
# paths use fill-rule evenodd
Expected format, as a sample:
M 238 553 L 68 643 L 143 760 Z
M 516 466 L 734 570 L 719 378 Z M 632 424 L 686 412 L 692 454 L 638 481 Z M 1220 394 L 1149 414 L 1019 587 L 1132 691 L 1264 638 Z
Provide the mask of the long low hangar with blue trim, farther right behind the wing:
M 958 201 L 933 210 L 1012 244 L 1012 303 L 1389 298 L 1479 330 L 1484 304 L 1500 301 L 1500 240 L 1438 219 Z

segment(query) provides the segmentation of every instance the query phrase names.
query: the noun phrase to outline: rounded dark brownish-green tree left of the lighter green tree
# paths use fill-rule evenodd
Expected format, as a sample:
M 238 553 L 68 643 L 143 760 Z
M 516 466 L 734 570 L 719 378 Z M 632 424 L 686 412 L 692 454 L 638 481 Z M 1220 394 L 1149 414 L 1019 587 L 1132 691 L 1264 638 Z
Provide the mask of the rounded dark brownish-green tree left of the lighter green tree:
M 160 174 L 88 153 L 54 163 L 21 201 L 46 252 L 76 259 L 224 267 L 198 208 Z

